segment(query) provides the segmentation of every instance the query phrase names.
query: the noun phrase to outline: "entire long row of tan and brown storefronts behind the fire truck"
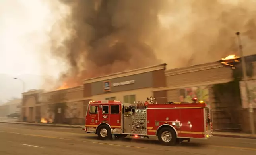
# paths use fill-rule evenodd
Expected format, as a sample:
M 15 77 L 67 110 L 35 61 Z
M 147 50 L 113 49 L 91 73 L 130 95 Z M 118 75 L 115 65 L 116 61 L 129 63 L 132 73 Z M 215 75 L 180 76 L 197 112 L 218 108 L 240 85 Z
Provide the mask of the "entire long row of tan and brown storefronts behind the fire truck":
M 256 94 L 254 91 L 256 62 L 252 64 L 254 75 L 249 78 L 252 87 L 250 89 Z M 223 66 L 219 62 L 172 70 L 166 70 L 165 67 L 166 64 L 160 64 L 85 79 L 83 86 L 59 91 L 36 90 L 23 93 L 22 115 L 29 122 L 52 117 L 56 123 L 84 124 L 84 116 L 90 100 L 138 102 L 154 96 L 158 103 L 166 103 L 167 101 L 192 102 L 192 98 L 197 97 L 213 108 L 215 130 L 236 128 L 243 132 L 250 130 L 248 109 L 244 99 L 235 105 L 230 102 L 234 96 L 230 96 L 230 100 L 217 99 L 216 91 L 213 89 L 215 85 L 233 81 L 233 70 L 230 67 Z M 245 91 L 240 90 L 244 98 Z M 54 108 L 51 105 L 55 105 Z M 255 112 L 254 115 L 256 120 Z

